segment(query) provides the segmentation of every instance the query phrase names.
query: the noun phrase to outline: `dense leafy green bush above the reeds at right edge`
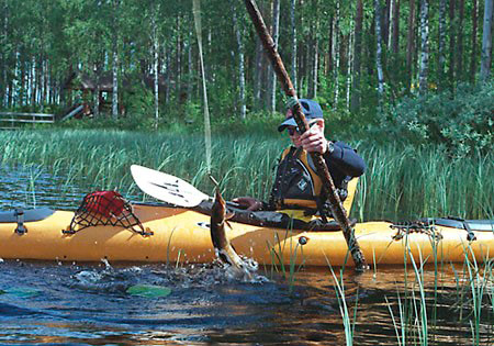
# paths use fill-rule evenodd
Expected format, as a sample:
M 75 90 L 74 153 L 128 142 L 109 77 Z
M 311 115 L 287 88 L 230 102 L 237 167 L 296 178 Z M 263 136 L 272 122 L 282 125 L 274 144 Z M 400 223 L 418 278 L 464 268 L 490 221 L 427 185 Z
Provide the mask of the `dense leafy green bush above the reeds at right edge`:
M 445 145 L 454 156 L 473 149 L 487 152 L 494 144 L 493 82 L 460 85 L 417 98 L 405 98 L 371 127 L 377 138 L 396 138 L 416 145 Z

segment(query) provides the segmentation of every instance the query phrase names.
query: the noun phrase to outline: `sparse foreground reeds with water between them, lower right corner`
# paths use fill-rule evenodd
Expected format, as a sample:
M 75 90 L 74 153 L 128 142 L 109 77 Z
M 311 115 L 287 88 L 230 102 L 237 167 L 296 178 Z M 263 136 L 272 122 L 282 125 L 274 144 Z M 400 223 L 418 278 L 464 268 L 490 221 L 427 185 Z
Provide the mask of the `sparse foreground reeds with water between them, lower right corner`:
M 400 274 L 389 278 L 388 283 L 378 279 L 375 286 L 382 295 L 374 298 L 367 295 L 372 292 L 371 282 L 380 277 L 379 274 L 374 272 L 371 280 L 369 277 L 360 278 L 359 281 L 364 284 L 363 294 L 359 297 L 360 284 L 353 284 L 353 292 L 351 289 L 346 291 L 345 282 L 351 286 L 355 276 L 345 276 L 344 269 L 337 274 L 328 264 L 345 344 L 368 342 L 366 316 L 371 299 L 375 310 L 388 310 L 388 317 L 380 314 L 381 325 L 377 326 L 386 331 L 386 345 L 493 345 L 494 261 L 478 264 L 472 255 L 471 248 L 465 247 L 463 264 L 437 264 L 437 256 L 434 259 L 422 256 L 414 259 L 409 252 L 405 253 L 405 266 Z M 445 276 L 445 271 L 436 269 L 449 266 L 448 271 L 454 272 L 454 276 Z M 359 306 L 359 300 L 366 309 Z M 390 343 L 393 334 L 395 342 Z

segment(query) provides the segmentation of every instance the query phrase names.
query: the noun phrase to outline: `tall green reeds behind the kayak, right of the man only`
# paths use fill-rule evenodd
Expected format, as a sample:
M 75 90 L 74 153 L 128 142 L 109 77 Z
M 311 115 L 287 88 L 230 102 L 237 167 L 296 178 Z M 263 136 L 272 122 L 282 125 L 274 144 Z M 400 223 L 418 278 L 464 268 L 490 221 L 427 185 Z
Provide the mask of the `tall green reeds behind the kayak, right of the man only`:
M 452 158 L 441 146 L 359 147 L 368 163 L 359 219 L 494 217 L 493 154 Z

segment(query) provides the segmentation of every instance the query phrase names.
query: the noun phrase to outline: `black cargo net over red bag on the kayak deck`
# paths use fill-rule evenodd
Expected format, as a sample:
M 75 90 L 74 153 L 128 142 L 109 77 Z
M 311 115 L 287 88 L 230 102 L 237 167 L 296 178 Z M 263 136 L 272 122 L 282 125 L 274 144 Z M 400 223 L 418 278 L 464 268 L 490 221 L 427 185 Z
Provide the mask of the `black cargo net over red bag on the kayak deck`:
M 132 205 L 119 192 L 96 191 L 86 194 L 77 209 L 65 234 L 75 234 L 87 227 L 99 225 L 121 226 L 141 235 L 153 235 L 146 232 L 143 224 L 132 211 Z

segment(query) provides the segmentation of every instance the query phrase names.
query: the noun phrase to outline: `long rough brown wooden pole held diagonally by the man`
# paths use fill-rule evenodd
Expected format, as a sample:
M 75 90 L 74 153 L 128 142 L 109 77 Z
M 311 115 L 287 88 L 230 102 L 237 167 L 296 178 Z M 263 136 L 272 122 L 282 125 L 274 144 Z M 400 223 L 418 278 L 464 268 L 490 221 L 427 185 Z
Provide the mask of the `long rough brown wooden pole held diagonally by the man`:
M 262 15 L 259 12 L 256 2 L 254 0 L 245 0 L 245 4 L 247 7 L 247 11 L 249 12 L 250 19 L 252 20 L 254 26 L 256 27 L 256 31 L 259 35 L 259 38 L 266 49 L 268 58 L 271 62 L 272 68 L 278 76 L 278 80 L 283 88 L 284 93 L 290 98 L 296 99 L 296 92 L 293 88 L 293 83 L 290 80 L 283 62 L 281 60 L 281 56 L 278 54 L 276 44 L 271 35 L 269 34 L 268 29 L 266 27 L 265 21 L 262 20 Z M 295 119 L 301 133 L 304 133 L 308 130 L 308 123 L 305 119 L 304 113 L 302 112 L 300 102 L 296 102 L 296 104 L 293 107 L 293 118 Z M 367 267 L 366 258 L 363 257 L 360 246 L 355 237 L 355 232 L 350 225 L 347 213 L 341 205 L 339 196 L 336 192 L 335 183 L 333 182 L 332 176 L 329 175 L 324 157 L 321 153 L 317 152 L 311 152 L 310 155 L 315 164 L 317 175 L 323 181 L 323 189 L 329 199 L 333 216 L 343 230 L 345 239 L 347 242 L 348 248 L 350 249 L 350 254 L 356 266 L 355 268 L 356 270 L 362 271 Z

